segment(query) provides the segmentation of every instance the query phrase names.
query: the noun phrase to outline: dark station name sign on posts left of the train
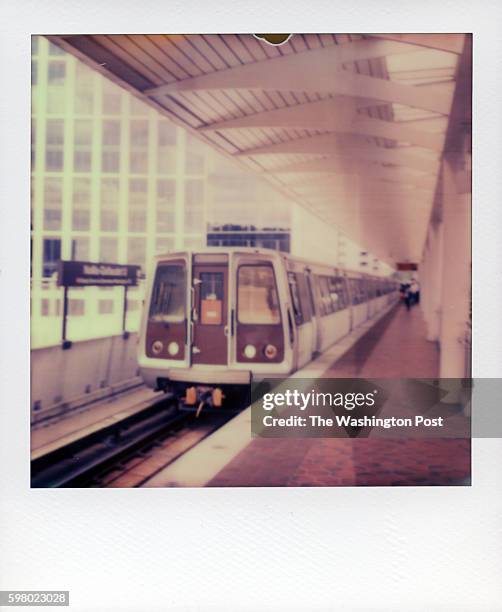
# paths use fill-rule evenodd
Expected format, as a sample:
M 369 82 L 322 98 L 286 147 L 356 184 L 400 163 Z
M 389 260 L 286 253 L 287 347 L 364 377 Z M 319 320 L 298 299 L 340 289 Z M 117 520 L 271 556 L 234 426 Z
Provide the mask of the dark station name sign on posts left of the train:
M 140 266 L 61 261 L 58 285 L 60 287 L 135 287 L 138 284 L 140 270 Z

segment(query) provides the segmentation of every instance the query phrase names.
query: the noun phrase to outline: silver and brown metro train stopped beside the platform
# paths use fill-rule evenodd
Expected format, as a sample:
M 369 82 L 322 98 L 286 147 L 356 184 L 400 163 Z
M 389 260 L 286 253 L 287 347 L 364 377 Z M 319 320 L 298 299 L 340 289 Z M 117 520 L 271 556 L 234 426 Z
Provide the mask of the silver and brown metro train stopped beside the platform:
M 256 248 L 157 256 L 138 343 L 145 383 L 185 409 L 287 377 L 387 305 L 398 283 Z

